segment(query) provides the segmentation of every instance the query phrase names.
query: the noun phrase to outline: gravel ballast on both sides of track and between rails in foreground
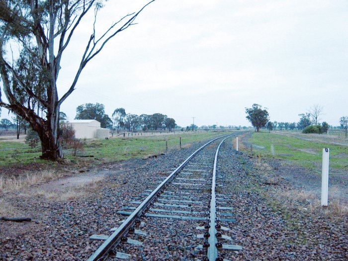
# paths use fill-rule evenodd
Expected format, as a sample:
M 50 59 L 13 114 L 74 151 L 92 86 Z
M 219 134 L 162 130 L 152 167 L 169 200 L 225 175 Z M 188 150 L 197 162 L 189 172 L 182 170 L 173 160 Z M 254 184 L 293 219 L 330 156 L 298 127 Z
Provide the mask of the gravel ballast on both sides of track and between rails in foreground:
M 90 241 L 92 234 L 110 235 L 124 216 L 116 212 L 147 189 L 158 184 L 158 177 L 178 167 L 203 143 L 148 160 L 130 160 L 110 164 L 105 178 L 88 188 L 87 196 L 70 201 L 45 196 L 27 197 L 19 192 L 6 194 L 17 212 L 31 216 L 34 222 L 0 221 L 0 260 L 86 260 L 101 244 Z M 211 154 L 214 148 L 210 149 Z M 243 251 L 221 251 L 229 260 L 347 260 L 347 216 L 335 217 L 324 210 L 308 211 L 306 200 L 279 195 L 291 184 L 279 179 L 278 185 L 263 184 L 264 170 L 253 160 L 231 148 L 231 141 L 221 148 L 218 161 L 217 191 L 228 195 L 236 223 L 223 223 L 223 234 L 243 247 Z M 280 182 L 281 181 L 281 182 Z M 142 218 L 143 246 L 121 244 L 119 250 L 132 255 L 131 260 L 199 260 L 203 251 L 196 249 L 202 239 L 199 221 Z

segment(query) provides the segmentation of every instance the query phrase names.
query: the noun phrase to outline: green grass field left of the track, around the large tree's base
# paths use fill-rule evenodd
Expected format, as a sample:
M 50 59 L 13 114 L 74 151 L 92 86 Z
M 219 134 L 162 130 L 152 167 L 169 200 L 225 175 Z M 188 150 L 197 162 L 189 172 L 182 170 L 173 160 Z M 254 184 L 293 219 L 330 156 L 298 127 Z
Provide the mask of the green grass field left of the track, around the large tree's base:
M 132 158 L 144 158 L 150 155 L 158 155 L 166 149 L 168 140 L 169 152 L 179 149 L 179 137 L 181 145 L 192 144 L 197 141 L 206 141 L 214 137 L 222 136 L 230 132 L 204 132 L 204 133 L 182 133 L 180 135 L 152 136 L 152 137 L 130 137 L 128 139 L 110 138 L 109 140 L 86 141 L 84 155 L 93 155 L 93 158 L 80 158 L 72 156 L 70 151 L 65 151 L 64 157 L 71 160 L 73 164 L 88 161 L 93 164 L 105 162 L 128 160 Z M 40 145 L 36 149 L 20 142 L 0 141 L 0 166 L 22 166 L 32 163 L 44 163 L 54 166 L 55 163 L 41 160 Z

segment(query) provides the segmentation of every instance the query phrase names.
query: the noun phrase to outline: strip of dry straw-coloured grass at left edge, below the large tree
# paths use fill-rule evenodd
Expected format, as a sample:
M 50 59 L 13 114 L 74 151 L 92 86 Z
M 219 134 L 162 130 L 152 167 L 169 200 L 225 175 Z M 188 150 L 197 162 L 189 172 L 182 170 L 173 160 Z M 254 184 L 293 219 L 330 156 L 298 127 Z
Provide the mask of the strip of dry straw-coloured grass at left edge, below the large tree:
M 4 192 L 19 190 L 34 184 L 50 181 L 61 176 L 63 176 L 63 174 L 49 170 L 11 177 L 0 175 L 0 189 Z

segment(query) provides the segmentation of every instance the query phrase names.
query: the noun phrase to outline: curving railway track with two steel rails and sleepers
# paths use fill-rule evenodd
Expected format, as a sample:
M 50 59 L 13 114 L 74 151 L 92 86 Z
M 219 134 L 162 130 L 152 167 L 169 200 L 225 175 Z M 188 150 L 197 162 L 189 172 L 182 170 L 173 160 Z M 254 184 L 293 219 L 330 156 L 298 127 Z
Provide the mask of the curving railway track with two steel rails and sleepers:
M 90 237 L 104 242 L 88 261 L 131 259 L 126 246 L 142 246 L 141 239 L 148 233 L 142 228 L 151 227 L 151 219 L 163 218 L 172 222 L 187 222 L 186 225 L 198 224 L 195 226 L 198 233 L 194 244 L 199 254 L 192 260 L 226 261 L 219 255 L 220 252 L 242 250 L 241 246 L 230 244 L 232 239 L 224 235 L 235 219 L 233 209 L 224 201 L 224 195 L 217 193 L 221 190 L 217 189 L 218 186 L 221 188 L 223 184 L 216 181 L 220 147 L 226 139 L 238 134 L 209 141 L 168 176 L 155 178 L 154 183 L 159 183 L 155 189 L 144 191 L 117 211 L 128 217 L 119 227 L 111 229 L 113 233 L 110 236 Z

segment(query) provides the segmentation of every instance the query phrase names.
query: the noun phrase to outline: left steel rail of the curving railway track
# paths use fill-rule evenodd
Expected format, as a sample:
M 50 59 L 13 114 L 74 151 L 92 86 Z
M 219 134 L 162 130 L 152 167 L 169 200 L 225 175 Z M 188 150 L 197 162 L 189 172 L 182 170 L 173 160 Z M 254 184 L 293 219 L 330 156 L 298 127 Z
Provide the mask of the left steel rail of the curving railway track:
M 200 150 L 202 150 L 204 147 L 209 145 L 210 143 L 224 138 L 224 137 L 231 137 L 235 136 L 238 133 L 233 134 L 227 134 L 220 136 L 218 138 L 215 138 L 206 144 L 204 144 L 202 147 L 200 147 L 198 150 L 196 150 L 194 153 L 192 153 L 179 167 L 176 168 L 158 187 L 154 189 L 154 191 L 151 192 L 151 194 L 144 199 L 144 201 L 132 212 L 132 214 L 111 234 L 110 237 L 108 237 L 103 244 L 88 258 L 87 261 L 99 261 L 102 260 L 105 255 L 109 253 L 112 248 L 116 247 L 118 243 L 120 243 L 121 238 L 124 237 L 128 233 L 128 229 L 133 225 L 133 223 L 141 217 L 143 212 L 149 208 L 150 204 L 154 201 L 157 194 L 175 177 L 176 174 L 180 172 L 180 170 L 187 164 L 189 160 L 191 160 Z

